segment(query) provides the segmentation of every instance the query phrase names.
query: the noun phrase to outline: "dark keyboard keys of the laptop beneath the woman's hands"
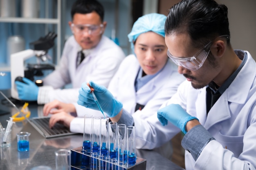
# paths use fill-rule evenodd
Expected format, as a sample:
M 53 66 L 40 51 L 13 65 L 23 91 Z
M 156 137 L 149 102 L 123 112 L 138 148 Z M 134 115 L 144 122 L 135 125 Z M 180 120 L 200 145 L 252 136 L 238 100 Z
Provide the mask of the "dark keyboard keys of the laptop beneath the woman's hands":
M 50 135 L 70 133 L 69 128 L 65 127 L 61 123 L 56 123 L 54 125 L 54 127 L 52 127 L 50 129 L 49 128 L 49 119 L 50 119 L 49 117 L 45 117 L 45 118 L 40 118 L 40 119 L 32 119 L 32 121 L 34 121 L 35 124 L 38 124 L 40 126 L 40 128 L 43 128 Z

